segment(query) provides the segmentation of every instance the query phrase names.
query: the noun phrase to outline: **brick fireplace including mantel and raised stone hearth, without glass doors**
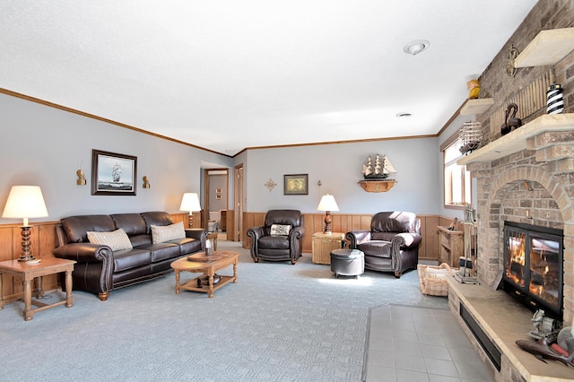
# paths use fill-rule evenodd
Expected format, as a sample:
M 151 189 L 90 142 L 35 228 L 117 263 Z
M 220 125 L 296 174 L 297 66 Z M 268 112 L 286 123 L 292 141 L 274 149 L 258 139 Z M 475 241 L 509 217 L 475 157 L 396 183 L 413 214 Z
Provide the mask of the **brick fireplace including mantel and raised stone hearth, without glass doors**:
M 563 230 L 563 320 L 574 317 L 574 114 L 542 115 L 475 152 L 466 164 L 477 180 L 477 266 L 481 285 L 449 282 L 448 304 L 497 381 L 574 379 L 565 365 L 522 351 L 532 312 L 494 291 L 504 265 L 504 224 Z M 487 360 L 490 359 L 490 360 Z M 543 378 L 543 379 L 539 379 Z

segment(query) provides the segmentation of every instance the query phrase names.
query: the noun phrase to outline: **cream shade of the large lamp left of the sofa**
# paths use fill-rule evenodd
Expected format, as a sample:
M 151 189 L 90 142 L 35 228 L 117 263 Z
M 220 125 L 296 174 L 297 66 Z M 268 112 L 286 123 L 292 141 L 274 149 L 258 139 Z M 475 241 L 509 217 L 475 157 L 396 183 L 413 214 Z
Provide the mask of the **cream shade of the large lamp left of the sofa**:
M 39 186 L 12 187 L 2 213 L 3 218 L 21 218 L 24 219 L 24 225 L 28 225 L 28 218 L 47 216 L 48 209 Z

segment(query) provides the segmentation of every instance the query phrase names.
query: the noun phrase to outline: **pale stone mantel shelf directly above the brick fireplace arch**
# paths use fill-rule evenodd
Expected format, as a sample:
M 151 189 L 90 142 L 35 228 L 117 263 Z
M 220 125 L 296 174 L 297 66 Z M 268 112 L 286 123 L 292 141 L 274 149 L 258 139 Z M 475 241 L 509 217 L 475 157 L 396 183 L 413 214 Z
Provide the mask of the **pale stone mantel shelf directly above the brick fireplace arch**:
M 544 114 L 518 127 L 494 142 L 488 143 L 457 161 L 458 165 L 490 162 L 526 150 L 526 141 L 547 131 L 574 130 L 574 114 Z

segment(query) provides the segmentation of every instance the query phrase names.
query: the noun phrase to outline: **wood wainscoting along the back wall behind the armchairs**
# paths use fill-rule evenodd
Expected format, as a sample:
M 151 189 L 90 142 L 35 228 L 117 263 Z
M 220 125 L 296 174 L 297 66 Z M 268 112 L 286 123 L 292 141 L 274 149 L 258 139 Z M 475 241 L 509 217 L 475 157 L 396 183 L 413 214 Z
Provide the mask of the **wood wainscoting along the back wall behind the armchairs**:
M 303 213 L 303 252 L 311 253 L 315 232 L 323 232 L 325 229 L 325 213 Z M 419 248 L 421 260 L 439 259 L 439 239 L 437 226 L 441 221 L 438 215 L 417 215 L 421 219 L 422 243 Z M 346 233 L 350 230 L 369 230 L 371 214 L 334 214 L 331 213 L 331 230 L 333 232 Z M 259 227 L 265 221 L 265 213 L 243 213 L 243 230 L 241 230 L 241 242 L 243 247 L 251 245 L 247 235 L 249 227 Z M 450 224 L 450 223 L 449 223 Z

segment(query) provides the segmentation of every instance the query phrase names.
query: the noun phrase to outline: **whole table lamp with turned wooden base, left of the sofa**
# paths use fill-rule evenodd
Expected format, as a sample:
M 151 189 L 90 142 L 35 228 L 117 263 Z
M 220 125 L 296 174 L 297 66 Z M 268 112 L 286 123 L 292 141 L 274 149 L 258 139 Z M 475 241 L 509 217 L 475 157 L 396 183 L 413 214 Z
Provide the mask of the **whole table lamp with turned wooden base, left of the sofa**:
M 22 255 L 18 261 L 34 259 L 30 252 L 30 226 L 29 218 L 45 218 L 48 210 L 44 203 L 42 190 L 39 186 L 13 186 L 4 207 L 3 218 L 23 219 L 22 224 Z

